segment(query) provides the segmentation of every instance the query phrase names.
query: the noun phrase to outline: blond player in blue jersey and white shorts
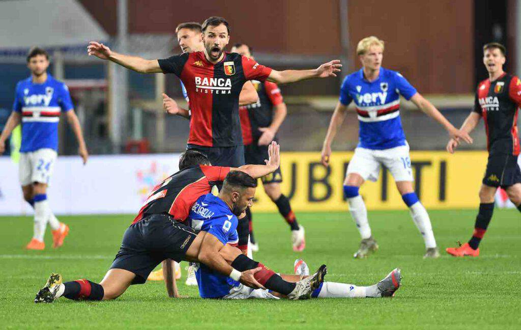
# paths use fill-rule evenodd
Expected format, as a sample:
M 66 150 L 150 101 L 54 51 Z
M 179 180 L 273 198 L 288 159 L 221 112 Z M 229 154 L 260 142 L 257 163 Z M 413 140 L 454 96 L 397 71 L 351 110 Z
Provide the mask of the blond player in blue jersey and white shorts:
M 413 189 L 409 146 L 400 120 L 400 95 L 411 100 L 421 111 L 438 121 L 451 137 L 472 143 L 468 133 L 451 123 L 398 72 L 381 67 L 383 41 L 369 36 L 358 42 L 356 52 L 362 69 L 345 77 L 340 100 L 334 109 L 322 148 L 322 164 L 329 165 L 331 143 L 342 125 L 348 105 L 354 101 L 359 121 L 359 143 L 349 162 L 344 180 L 344 197 L 362 237 L 355 258 L 365 258 L 378 245 L 371 235 L 367 210 L 359 188 L 366 180 L 376 181 L 384 166 L 396 182 L 403 202 L 411 210 L 413 222 L 423 236 L 424 258 L 438 258 L 439 252 L 429 214 Z

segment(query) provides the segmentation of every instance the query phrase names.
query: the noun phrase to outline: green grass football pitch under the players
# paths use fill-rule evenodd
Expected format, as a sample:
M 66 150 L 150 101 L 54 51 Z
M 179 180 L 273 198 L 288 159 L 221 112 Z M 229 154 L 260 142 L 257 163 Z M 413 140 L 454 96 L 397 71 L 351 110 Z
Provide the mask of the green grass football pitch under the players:
M 254 213 L 260 251 L 254 259 L 276 272 L 292 273 L 303 258 L 312 271 L 328 265 L 326 280 L 370 285 L 394 267 L 403 286 L 392 299 L 203 300 L 195 287 L 178 282 L 181 295 L 167 298 L 162 282 L 134 285 L 114 301 L 60 298 L 52 304 L 33 299 L 51 272 L 65 280 L 99 282 L 118 251 L 131 215 L 61 216 L 70 226 L 65 245 L 25 251 L 31 217 L 0 217 L 1 328 L 517 328 L 521 321 L 521 215 L 495 210 L 476 259 L 444 252 L 468 240 L 475 211 L 431 211 L 438 260 L 423 260 L 423 240 L 407 211 L 369 212 L 380 249 L 354 260 L 358 232 L 348 213 L 297 213 L 306 228 L 306 249 L 291 250 L 290 231 L 278 214 Z

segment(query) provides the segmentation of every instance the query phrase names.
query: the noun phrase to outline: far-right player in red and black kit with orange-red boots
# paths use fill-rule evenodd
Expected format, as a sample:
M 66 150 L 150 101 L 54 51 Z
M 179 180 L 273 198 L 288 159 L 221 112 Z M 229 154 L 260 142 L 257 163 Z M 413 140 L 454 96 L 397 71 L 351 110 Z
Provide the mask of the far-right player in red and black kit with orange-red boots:
M 489 78 L 481 81 L 476 90 L 474 109 L 461 129 L 467 133 L 474 130 L 483 117 L 489 152 L 487 170 L 479 189 L 479 211 L 476 216 L 472 238 L 458 248 L 447 248 L 454 256 L 478 256 L 479 243 L 487 231 L 494 211 L 494 196 L 498 187 L 521 211 L 521 170 L 517 164 L 519 137 L 517 112 L 521 106 L 521 80 L 503 71 L 505 47 L 499 43 L 483 46 L 483 64 Z M 460 140 L 453 138 L 447 151 L 454 153 Z M 472 166 L 472 164 L 469 164 Z

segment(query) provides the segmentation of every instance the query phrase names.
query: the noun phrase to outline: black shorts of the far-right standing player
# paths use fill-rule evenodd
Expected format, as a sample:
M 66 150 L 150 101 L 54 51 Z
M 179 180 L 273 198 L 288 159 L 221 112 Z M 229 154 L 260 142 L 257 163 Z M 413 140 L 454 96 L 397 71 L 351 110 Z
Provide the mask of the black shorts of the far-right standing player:
M 506 188 L 521 182 L 521 170 L 514 155 L 489 155 L 483 185 Z

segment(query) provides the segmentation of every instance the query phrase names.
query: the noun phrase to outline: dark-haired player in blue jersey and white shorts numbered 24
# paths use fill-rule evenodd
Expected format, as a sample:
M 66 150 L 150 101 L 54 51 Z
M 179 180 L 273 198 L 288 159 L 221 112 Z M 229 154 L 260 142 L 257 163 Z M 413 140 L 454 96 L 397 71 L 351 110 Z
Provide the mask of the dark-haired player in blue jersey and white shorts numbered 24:
M 45 50 L 34 47 L 27 55 L 27 67 L 31 77 L 16 85 L 13 113 L 7 119 L 0 135 L 0 155 L 5 151 L 5 141 L 13 129 L 21 124 L 20 184 L 23 199 L 34 209 L 33 237 L 27 244 L 28 250 L 43 250 L 47 223 L 53 234 L 53 248 L 63 245 L 69 227 L 58 221 L 47 200 L 47 187 L 51 181 L 56 152 L 58 150 L 58 122 L 65 113 L 78 140 L 78 153 L 83 164 L 89 156 L 80 122 L 67 85 L 47 74 L 49 55 Z

